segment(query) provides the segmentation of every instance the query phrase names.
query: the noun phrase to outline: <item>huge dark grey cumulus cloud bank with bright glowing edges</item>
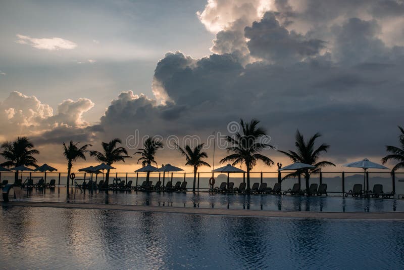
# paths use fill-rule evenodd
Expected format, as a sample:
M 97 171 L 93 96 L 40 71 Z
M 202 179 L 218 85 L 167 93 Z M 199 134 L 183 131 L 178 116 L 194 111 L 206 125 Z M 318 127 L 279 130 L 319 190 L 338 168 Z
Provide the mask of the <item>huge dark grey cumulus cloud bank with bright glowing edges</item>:
M 65 101 L 53 115 L 26 97 L 28 107 L 3 102 L 2 121 L 53 125 L 42 134 L 45 142 L 124 140 L 136 129 L 141 135 L 204 137 L 226 133 L 229 121 L 254 117 L 282 150 L 294 147 L 299 128 L 308 136 L 321 131 L 332 146 L 330 159 L 381 156 L 384 145 L 396 141 L 404 113 L 404 36 L 390 27 L 402 20 L 401 5 L 210 0 L 197 15 L 216 33 L 213 54 L 195 59 L 167 53 L 155 69 L 154 97 L 122 92 L 96 125 L 82 119 L 93 106 L 89 100 Z

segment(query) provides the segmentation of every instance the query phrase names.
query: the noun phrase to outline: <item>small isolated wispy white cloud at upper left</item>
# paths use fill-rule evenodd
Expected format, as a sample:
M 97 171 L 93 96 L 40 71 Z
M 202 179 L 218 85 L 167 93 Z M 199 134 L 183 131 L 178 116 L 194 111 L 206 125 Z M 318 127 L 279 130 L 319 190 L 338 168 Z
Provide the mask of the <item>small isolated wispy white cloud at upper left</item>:
M 16 42 L 19 44 L 27 44 L 39 50 L 58 51 L 58 50 L 72 50 L 77 47 L 73 41 L 63 39 L 60 37 L 52 38 L 33 38 L 26 35 L 17 34 L 19 38 Z

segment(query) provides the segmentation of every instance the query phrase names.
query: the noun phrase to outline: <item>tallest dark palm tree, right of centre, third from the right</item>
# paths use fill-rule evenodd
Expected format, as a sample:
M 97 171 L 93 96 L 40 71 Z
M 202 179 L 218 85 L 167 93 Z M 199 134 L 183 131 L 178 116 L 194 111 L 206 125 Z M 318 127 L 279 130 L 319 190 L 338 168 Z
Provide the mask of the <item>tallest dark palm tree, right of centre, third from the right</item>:
M 247 189 L 249 185 L 249 172 L 261 160 L 265 165 L 271 166 L 274 162 L 267 156 L 260 154 L 267 147 L 273 148 L 271 145 L 260 143 L 260 140 L 267 136 L 264 128 L 259 127 L 260 121 L 252 119 L 249 123 L 245 123 L 240 119 L 242 134 L 236 132 L 234 137 L 227 136 L 226 140 L 230 143 L 227 153 L 232 153 L 223 158 L 220 162 L 225 163 L 233 161 L 232 165 L 244 163 L 247 168 Z

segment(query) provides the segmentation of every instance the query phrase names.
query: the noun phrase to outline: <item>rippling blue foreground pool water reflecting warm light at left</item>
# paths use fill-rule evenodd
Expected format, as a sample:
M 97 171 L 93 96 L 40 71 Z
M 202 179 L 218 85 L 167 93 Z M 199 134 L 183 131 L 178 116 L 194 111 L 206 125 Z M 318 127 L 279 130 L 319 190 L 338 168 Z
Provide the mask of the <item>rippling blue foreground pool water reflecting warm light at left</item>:
M 0 209 L 0 268 L 386 268 L 403 221 Z

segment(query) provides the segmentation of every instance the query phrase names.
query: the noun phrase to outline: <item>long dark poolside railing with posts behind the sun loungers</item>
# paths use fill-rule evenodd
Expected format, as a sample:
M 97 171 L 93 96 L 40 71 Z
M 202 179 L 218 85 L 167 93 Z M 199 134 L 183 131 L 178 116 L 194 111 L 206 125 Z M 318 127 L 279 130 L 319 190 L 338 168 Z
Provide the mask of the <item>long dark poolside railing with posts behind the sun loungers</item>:
M 103 174 L 91 174 L 86 172 L 75 172 L 76 181 L 78 179 L 92 179 L 93 182 L 97 183 L 100 179 L 105 180 L 106 173 Z M 14 183 L 14 172 L 0 172 L 0 179 L 7 179 L 9 183 Z M 46 177 L 43 172 L 23 172 L 20 173 L 19 178 L 25 179 L 29 177 L 43 177 L 45 179 L 45 184 L 51 179 L 55 179 L 56 186 L 63 187 L 67 184 L 67 172 L 47 172 Z M 246 173 L 213 173 L 216 179 L 216 185 L 219 186 L 220 182 L 227 182 L 228 178 L 230 182 L 234 183 L 234 187 L 237 187 L 240 183 L 246 182 Z M 285 178 L 287 172 L 250 172 L 250 183 L 267 183 L 268 187 L 273 187 L 275 183 L 279 181 L 279 177 L 282 181 L 282 191 L 287 190 L 293 186 L 294 183 L 298 181 L 297 178 Z M 208 191 L 209 178 L 212 176 L 212 172 L 198 172 L 196 174 L 195 188 L 197 191 Z M 138 186 L 146 178 L 146 173 L 139 172 L 110 172 L 110 181 L 113 178 L 121 178 L 127 183 L 132 180 L 133 185 Z M 404 172 L 394 172 L 390 171 L 369 171 L 364 173 L 364 171 L 322 171 L 318 174 L 313 174 L 310 178 L 310 183 L 325 183 L 328 186 L 327 193 L 330 194 L 342 194 L 350 190 L 354 184 L 362 184 L 365 190 L 370 190 L 374 184 L 382 184 L 384 191 L 392 191 L 396 194 L 404 194 L 404 185 L 398 187 L 397 182 L 399 179 L 404 178 Z M 188 190 L 193 186 L 193 172 L 151 172 L 150 181 L 161 181 L 162 184 L 166 181 L 186 181 Z M 302 187 L 304 187 L 304 178 L 301 179 Z M 400 181 L 401 182 L 401 181 Z M 69 185 L 75 186 L 73 181 L 69 182 Z M 398 191 L 398 192 L 397 192 Z

